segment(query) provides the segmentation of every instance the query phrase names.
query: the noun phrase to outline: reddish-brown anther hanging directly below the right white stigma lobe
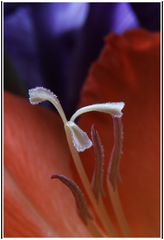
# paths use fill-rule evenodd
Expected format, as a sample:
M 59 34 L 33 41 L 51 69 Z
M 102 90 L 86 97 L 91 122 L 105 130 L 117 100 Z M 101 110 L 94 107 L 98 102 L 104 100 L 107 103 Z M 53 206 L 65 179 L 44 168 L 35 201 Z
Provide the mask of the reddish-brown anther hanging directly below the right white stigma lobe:
M 115 191 L 119 178 L 119 166 L 122 153 L 123 127 L 121 118 L 113 118 L 114 126 L 114 146 L 109 162 L 109 179 Z

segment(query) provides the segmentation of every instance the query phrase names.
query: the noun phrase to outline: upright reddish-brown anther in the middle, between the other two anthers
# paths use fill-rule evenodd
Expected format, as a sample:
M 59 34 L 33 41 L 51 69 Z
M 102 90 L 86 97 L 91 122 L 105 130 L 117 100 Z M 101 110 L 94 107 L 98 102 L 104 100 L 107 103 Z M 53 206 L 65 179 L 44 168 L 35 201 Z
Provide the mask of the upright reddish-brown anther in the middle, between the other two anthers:
M 91 127 L 91 136 L 95 152 L 95 169 L 92 178 L 92 189 L 97 201 L 104 194 L 103 191 L 103 173 L 104 173 L 104 148 L 101 144 L 100 136 L 94 125 Z

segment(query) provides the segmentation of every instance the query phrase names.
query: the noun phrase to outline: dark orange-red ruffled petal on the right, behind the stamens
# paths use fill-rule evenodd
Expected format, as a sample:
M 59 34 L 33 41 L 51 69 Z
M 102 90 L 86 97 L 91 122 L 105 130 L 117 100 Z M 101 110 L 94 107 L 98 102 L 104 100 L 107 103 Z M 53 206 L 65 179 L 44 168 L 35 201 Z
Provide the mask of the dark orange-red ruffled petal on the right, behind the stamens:
M 123 36 L 111 34 L 90 70 L 81 98 L 81 106 L 109 101 L 126 104 L 118 190 L 133 237 L 160 234 L 159 47 L 158 33 L 138 29 Z M 113 144 L 112 120 L 99 113 L 81 117 L 80 125 L 88 133 L 92 124 L 102 138 L 107 167 Z M 88 150 L 82 157 L 91 175 L 93 153 Z

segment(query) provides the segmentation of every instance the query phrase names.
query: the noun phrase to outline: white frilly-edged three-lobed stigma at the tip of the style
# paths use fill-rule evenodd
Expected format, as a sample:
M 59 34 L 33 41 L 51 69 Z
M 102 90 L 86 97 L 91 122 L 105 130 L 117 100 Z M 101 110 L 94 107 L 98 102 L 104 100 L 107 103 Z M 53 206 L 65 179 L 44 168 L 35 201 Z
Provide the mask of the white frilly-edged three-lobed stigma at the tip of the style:
M 30 96 L 29 100 L 31 104 L 35 105 L 44 101 L 49 101 L 54 105 L 54 107 L 59 112 L 61 119 L 63 120 L 65 129 L 69 128 L 71 132 L 71 139 L 72 139 L 73 145 L 78 152 L 83 152 L 87 148 L 90 148 L 92 146 L 92 141 L 89 139 L 87 133 L 85 133 L 82 129 L 80 129 L 75 124 L 74 122 L 75 119 L 79 117 L 81 114 L 84 114 L 86 112 L 91 112 L 91 111 L 108 113 L 108 114 L 111 114 L 113 117 L 120 118 L 122 116 L 121 110 L 125 105 L 123 102 L 93 104 L 90 106 L 80 108 L 78 111 L 76 111 L 72 115 L 70 121 L 67 121 L 63 108 L 57 96 L 54 93 L 52 93 L 50 90 L 43 87 L 36 87 L 29 90 L 29 96 Z

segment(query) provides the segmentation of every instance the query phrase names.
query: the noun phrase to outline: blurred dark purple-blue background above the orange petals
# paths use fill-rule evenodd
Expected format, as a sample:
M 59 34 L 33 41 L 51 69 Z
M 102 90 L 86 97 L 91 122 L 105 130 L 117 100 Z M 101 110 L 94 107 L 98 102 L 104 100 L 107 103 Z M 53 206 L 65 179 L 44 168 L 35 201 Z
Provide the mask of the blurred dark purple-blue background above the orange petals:
M 43 86 L 67 116 L 111 32 L 160 31 L 160 3 L 3 3 L 4 87 L 28 97 Z M 50 107 L 48 104 L 46 106 Z

